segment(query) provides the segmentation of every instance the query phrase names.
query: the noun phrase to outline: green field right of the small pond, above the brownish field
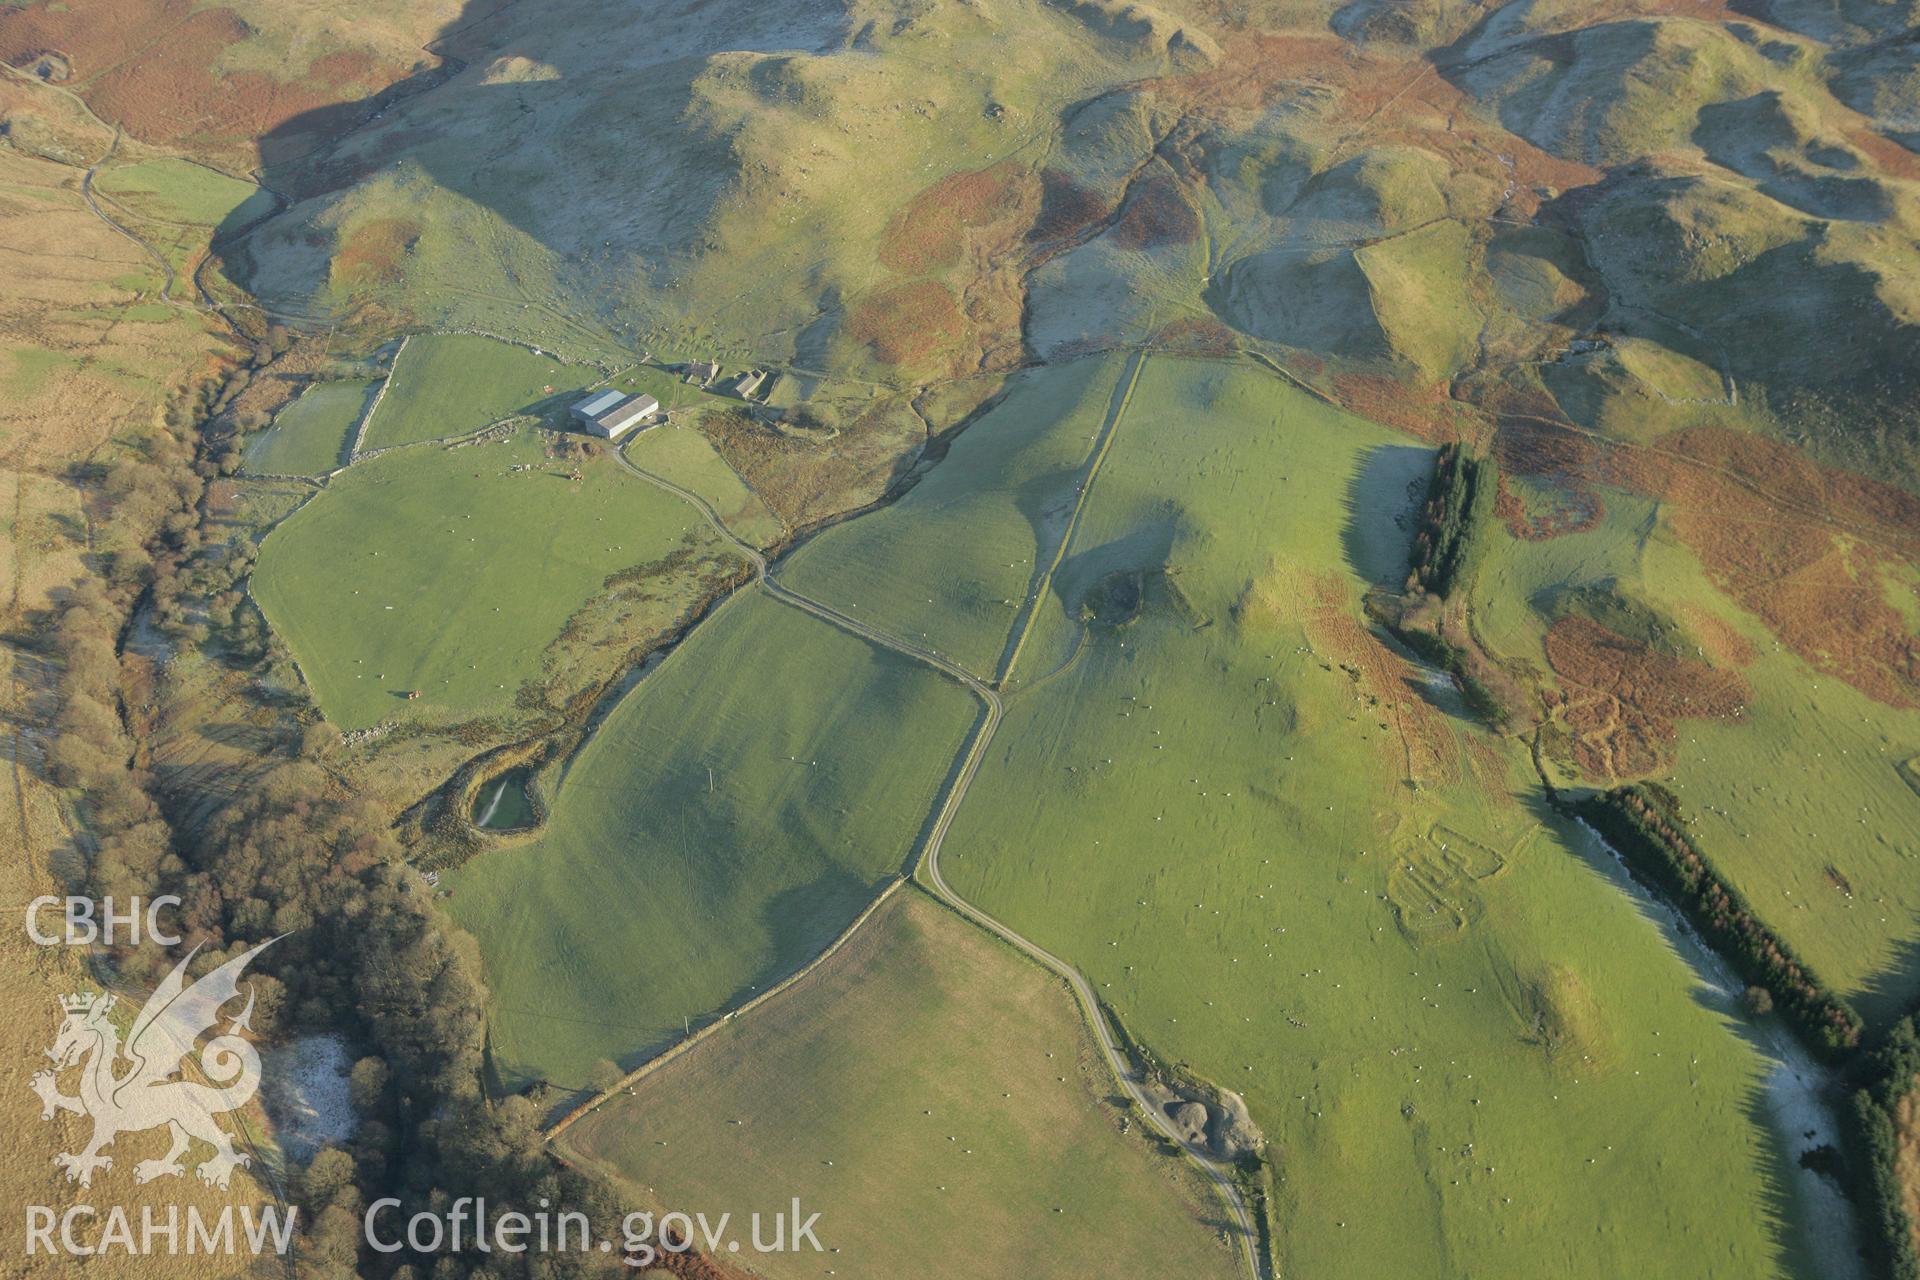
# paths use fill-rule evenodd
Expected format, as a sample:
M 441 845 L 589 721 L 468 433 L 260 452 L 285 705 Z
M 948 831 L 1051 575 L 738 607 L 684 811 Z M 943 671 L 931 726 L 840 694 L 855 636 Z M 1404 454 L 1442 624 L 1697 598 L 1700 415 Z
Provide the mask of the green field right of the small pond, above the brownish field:
M 812 960 L 899 873 L 973 699 L 753 593 L 601 723 L 545 829 L 449 877 L 509 1080 L 580 1086 Z

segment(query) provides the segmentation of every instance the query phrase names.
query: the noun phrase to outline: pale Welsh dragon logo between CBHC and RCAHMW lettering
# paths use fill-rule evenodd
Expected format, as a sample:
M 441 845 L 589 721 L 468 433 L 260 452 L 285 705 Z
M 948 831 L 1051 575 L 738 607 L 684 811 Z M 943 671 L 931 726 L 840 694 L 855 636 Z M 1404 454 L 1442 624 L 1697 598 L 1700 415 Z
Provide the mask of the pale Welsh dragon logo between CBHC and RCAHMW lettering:
M 196 1138 L 213 1148 L 213 1155 L 196 1171 L 202 1182 L 225 1188 L 236 1165 L 252 1163 L 252 1157 L 234 1151 L 232 1138 L 213 1119 L 246 1105 L 259 1090 L 259 1054 L 238 1034 L 250 1031 L 252 990 L 240 1017 L 227 1025 L 227 1032 L 198 1050 L 200 1069 L 215 1084 L 177 1077 L 182 1063 L 194 1055 L 200 1036 L 213 1031 L 221 1006 L 240 994 L 240 973 L 276 940 L 269 938 L 198 983 L 186 983 L 186 965 L 200 950 L 196 946 L 148 996 L 132 1019 L 125 1046 L 119 1029 L 108 1019 L 113 996 L 61 996 L 60 1004 L 67 1017 L 60 1025 L 54 1048 L 46 1052 L 54 1059 L 54 1069 L 33 1077 L 33 1092 L 44 1103 L 42 1121 L 54 1119 L 56 1111 L 73 1111 L 94 1121 L 94 1136 L 86 1148 L 77 1155 L 54 1157 L 54 1163 L 67 1171 L 67 1180 L 92 1186 L 96 1169 L 113 1167 L 113 1157 L 102 1155 L 102 1148 L 111 1146 L 119 1134 L 161 1125 L 171 1132 L 173 1146 L 161 1159 L 134 1165 L 134 1182 L 177 1178 L 186 1173 L 180 1157 Z M 77 1098 L 60 1092 L 60 1075 L 71 1067 L 81 1067 Z

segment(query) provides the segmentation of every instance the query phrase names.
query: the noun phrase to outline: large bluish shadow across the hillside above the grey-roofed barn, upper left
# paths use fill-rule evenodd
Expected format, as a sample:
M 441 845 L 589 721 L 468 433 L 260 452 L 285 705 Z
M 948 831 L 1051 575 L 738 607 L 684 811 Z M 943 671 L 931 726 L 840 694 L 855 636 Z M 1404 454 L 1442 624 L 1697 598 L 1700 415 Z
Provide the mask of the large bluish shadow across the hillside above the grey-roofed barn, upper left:
M 405 167 L 570 269 L 605 278 L 670 271 L 680 255 L 703 249 L 714 209 L 735 186 L 732 138 L 703 121 L 712 56 L 770 54 L 778 63 L 778 54 L 835 52 L 851 38 L 852 13 L 835 4 L 563 0 L 536 21 L 526 6 L 467 0 L 426 40 L 411 75 L 261 136 L 259 182 L 286 209 L 236 215 L 217 240 L 244 253 L 250 234 L 280 217 L 303 217 L 309 232 L 326 236 L 334 219 L 324 205 Z M 751 88 L 768 102 L 791 92 L 778 73 Z M 436 113 L 420 102 L 436 92 L 459 96 L 459 109 Z M 580 163 L 555 163 L 555 138 L 568 138 Z M 668 144 L 647 148 L 649 163 L 626 165 L 628 138 Z M 309 201 L 321 205 L 301 209 Z M 374 271 L 413 251 L 397 219 L 363 248 L 374 253 Z M 382 267 L 386 259 L 394 263 Z M 324 265 L 313 271 L 324 280 Z

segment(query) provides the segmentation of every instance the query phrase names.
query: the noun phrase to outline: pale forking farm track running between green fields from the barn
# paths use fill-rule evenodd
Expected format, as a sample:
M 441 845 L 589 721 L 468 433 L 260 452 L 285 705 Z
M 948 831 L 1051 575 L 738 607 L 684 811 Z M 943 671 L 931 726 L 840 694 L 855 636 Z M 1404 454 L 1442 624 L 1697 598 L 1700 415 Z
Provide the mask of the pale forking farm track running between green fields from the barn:
M 1194 1167 L 1198 1167 L 1200 1173 L 1206 1174 L 1208 1182 L 1213 1184 L 1213 1190 L 1219 1196 L 1221 1203 L 1225 1205 L 1227 1215 L 1233 1219 L 1235 1234 L 1238 1236 L 1240 1259 L 1246 1265 L 1248 1274 L 1252 1274 L 1254 1280 L 1271 1280 L 1267 1267 L 1261 1263 L 1260 1232 L 1254 1226 L 1254 1211 L 1248 1207 L 1246 1196 L 1240 1192 L 1240 1186 L 1233 1180 L 1229 1167 L 1213 1159 L 1206 1148 L 1187 1142 L 1173 1130 L 1162 1109 L 1146 1094 L 1144 1080 L 1135 1071 L 1133 1061 L 1121 1050 L 1119 1040 L 1114 1034 L 1114 1027 L 1108 1023 L 1106 1013 L 1100 1009 L 1098 998 L 1092 994 L 1092 986 L 1087 983 L 1085 977 L 1081 977 L 1079 969 L 1069 965 L 1060 956 L 1054 956 L 1033 938 L 1021 935 L 1012 925 L 1000 921 L 983 908 L 962 898 L 960 892 L 947 883 L 947 877 L 941 875 L 941 846 L 947 841 L 947 833 L 952 829 L 954 818 L 960 812 L 960 804 L 966 800 L 968 789 L 973 785 L 973 777 L 979 773 L 979 766 L 987 758 L 987 748 L 993 745 L 993 737 L 1000 729 L 1000 720 L 1006 714 L 1006 702 L 1000 699 L 1000 687 L 1012 676 L 1014 664 L 1020 660 L 1020 651 L 1023 649 L 1027 635 L 1033 629 L 1033 620 L 1039 616 L 1041 604 L 1044 603 L 1046 593 L 1052 589 L 1054 574 L 1060 570 L 1060 564 L 1068 557 L 1068 549 L 1073 543 L 1073 533 L 1079 528 L 1081 516 L 1087 510 L 1087 501 L 1092 495 L 1094 480 L 1098 480 L 1100 468 L 1106 462 L 1108 451 L 1114 445 L 1114 436 L 1119 432 L 1119 422 L 1127 413 L 1127 405 L 1133 403 L 1133 388 L 1139 384 L 1140 368 L 1144 365 L 1146 365 L 1146 351 L 1135 351 L 1127 363 L 1125 372 L 1121 374 L 1121 384 L 1119 388 L 1116 388 L 1114 405 L 1106 415 L 1106 422 L 1100 426 L 1100 438 L 1094 443 L 1094 449 L 1087 461 L 1087 472 L 1079 480 L 1079 491 L 1073 501 L 1073 512 L 1068 516 L 1068 524 L 1060 533 L 1060 545 L 1054 549 L 1054 557 L 1046 564 L 1046 568 L 1041 570 L 1035 576 L 1033 583 L 1027 587 L 1027 599 L 1020 610 L 1020 616 L 1014 622 L 1014 629 L 1008 635 L 1006 649 L 1002 651 L 998 670 L 995 672 L 991 683 L 983 681 L 981 677 L 962 668 L 958 662 L 952 662 L 950 658 L 945 658 L 931 649 L 924 649 L 920 645 L 902 641 L 895 635 L 887 635 L 885 631 L 870 628 L 868 624 L 856 618 L 849 618 L 847 614 L 839 612 L 837 608 L 831 608 L 829 604 L 822 604 L 820 601 L 804 597 L 797 591 L 789 591 L 778 580 L 774 580 L 766 564 L 766 557 L 756 547 L 751 547 L 749 543 L 741 541 L 733 533 L 733 530 L 726 526 L 726 522 L 720 518 L 720 514 L 712 509 L 712 505 L 707 499 L 676 486 L 674 482 L 662 476 L 657 476 L 637 466 L 620 449 L 614 449 L 612 455 L 620 461 L 620 464 L 626 470 L 639 476 L 647 484 L 664 489 L 680 497 L 682 501 L 693 505 L 693 509 L 697 509 L 701 516 L 707 518 L 707 524 L 712 526 L 712 530 L 722 539 L 726 539 L 739 555 L 743 555 L 749 560 L 749 564 L 753 564 L 755 581 L 770 597 L 781 601 L 783 604 L 791 604 L 793 608 L 808 612 L 820 618 L 822 622 L 835 626 L 851 635 L 879 645 L 881 649 L 891 649 L 895 652 L 916 658 L 918 662 L 924 662 L 935 668 L 937 672 L 966 685 L 981 700 L 983 712 L 979 723 L 975 725 L 973 737 L 968 741 L 966 748 L 960 754 L 960 762 L 952 773 L 952 783 L 948 785 L 947 794 L 941 798 L 941 804 L 933 814 L 933 821 L 927 827 L 925 844 L 920 856 L 916 858 L 916 871 L 920 879 L 925 883 L 925 887 L 935 896 L 941 898 L 941 902 L 960 912 L 960 915 L 972 919 L 981 929 L 1002 938 L 1008 946 L 1016 948 L 1041 967 L 1050 969 L 1054 975 L 1066 981 L 1068 988 L 1073 992 L 1073 998 L 1079 1002 L 1089 1027 L 1092 1029 L 1094 1040 L 1100 1046 L 1100 1055 L 1106 1059 L 1106 1067 L 1112 1073 L 1114 1080 L 1117 1080 L 1119 1086 L 1125 1090 L 1125 1094 L 1139 1105 L 1140 1113 L 1154 1126 L 1154 1130 L 1160 1132 L 1160 1136 L 1171 1142 L 1177 1150 L 1181 1150 L 1187 1155 L 1187 1159 L 1192 1161 Z

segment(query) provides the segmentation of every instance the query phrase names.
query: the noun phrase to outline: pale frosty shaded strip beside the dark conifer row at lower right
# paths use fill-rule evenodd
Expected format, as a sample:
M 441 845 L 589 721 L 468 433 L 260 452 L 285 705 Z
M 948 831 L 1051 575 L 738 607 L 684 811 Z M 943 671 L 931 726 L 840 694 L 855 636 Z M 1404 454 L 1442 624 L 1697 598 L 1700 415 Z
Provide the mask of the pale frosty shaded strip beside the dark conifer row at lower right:
M 1834 1111 L 1839 1086 L 1834 1073 L 1814 1061 L 1780 1019 L 1749 1019 L 1740 1006 L 1745 984 L 1728 969 L 1726 961 L 1701 942 L 1676 910 L 1651 896 L 1628 873 L 1626 862 L 1597 831 L 1584 821 L 1578 825 L 1592 850 L 1599 854 L 1594 858 L 1594 865 L 1609 875 L 1620 892 L 1640 904 L 1647 919 L 1661 929 L 1693 969 L 1693 977 L 1705 988 L 1703 1002 L 1726 1013 L 1734 1023 L 1734 1032 L 1753 1044 L 1766 1059 L 1766 1119 L 1786 1157 L 1786 1190 L 1799 1207 L 1799 1245 L 1812 1261 L 1816 1274 L 1824 1280 L 1866 1280 L 1853 1203 L 1832 1178 L 1801 1165 L 1805 1151 L 1841 1144 L 1839 1117 Z

